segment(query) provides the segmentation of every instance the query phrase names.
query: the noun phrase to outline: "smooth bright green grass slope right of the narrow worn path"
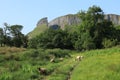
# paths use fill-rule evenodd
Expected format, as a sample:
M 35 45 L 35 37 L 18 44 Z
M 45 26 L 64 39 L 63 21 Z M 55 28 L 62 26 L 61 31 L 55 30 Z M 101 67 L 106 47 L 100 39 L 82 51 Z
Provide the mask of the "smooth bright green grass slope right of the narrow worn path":
M 71 80 L 120 80 L 120 48 L 84 54 L 85 58 L 74 69 Z

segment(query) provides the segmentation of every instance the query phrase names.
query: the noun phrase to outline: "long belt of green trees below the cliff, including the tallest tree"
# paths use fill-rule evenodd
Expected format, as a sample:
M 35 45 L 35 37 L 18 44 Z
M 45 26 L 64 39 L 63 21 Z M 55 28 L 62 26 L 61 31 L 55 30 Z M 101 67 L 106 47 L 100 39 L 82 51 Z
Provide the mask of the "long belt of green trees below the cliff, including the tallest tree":
M 104 19 L 98 6 L 77 13 L 82 20 L 79 25 L 66 26 L 64 30 L 49 28 L 29 40 L 30 48 L 61 48 L 91 50 L 108 48 L 120 44 L 120 26 Z

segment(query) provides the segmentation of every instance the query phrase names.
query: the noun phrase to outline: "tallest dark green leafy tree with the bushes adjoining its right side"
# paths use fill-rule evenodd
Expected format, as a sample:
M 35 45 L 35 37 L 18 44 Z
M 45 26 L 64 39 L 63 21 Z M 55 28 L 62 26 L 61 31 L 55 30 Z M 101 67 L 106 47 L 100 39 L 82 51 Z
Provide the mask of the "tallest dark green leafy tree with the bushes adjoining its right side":
M 78 39 L 75 49 L 90 50 L 103 47 L 112 47 L 119 42 L 119 30 L 116 30 L 111 21 L 104 20 L 104 12 L 100 7 L 92 6 L 87 12 L 81 11 L 78 16 L 82 23 L 78 26 Z M 104 40 L 112 40 L 110 45 Z

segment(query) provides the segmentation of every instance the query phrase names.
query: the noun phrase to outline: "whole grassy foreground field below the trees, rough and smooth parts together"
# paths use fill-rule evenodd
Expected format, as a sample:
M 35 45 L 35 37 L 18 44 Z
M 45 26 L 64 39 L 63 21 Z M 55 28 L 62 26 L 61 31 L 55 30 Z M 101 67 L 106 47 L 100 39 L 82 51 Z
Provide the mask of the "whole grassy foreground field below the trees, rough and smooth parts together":
M 84 59 L 75 61 L 77 55 Z M 46 74 L 39 73 L 39 67 L 46 68 Z M 0 54 L 0 80 L 120 80 L 119 73 L 119 46 L 86 52 L 30 49 Z

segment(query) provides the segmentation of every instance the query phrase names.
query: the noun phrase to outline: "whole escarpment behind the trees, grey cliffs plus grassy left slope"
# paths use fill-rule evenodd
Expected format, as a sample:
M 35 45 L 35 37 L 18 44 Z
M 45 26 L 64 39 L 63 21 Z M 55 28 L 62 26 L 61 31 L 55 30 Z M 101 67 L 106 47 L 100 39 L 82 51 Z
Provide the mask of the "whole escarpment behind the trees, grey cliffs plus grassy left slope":
M 112 21 L 115 25 L 120 25 L 120 15 L 116 14 L 106 14 L 104 16 L 106 20 Z M 48 22 L 47 17 L 40 19 L 36 28 L 28 34 L 29 37 L 34 37 L 49 27 L 56 29 L 60 27 L 64 29 L 66 25 L 77 25 L 80 24 L 82 20 L 76 14 L 68 14 L 65 16 L 57 17 L 52 21 Z

